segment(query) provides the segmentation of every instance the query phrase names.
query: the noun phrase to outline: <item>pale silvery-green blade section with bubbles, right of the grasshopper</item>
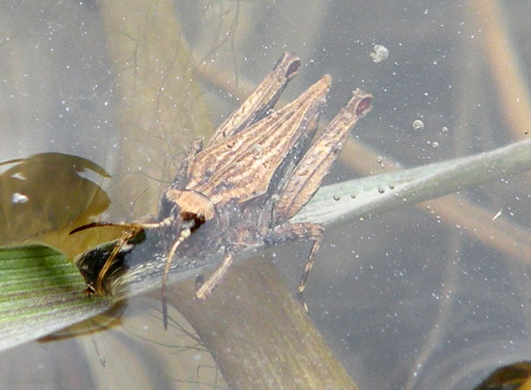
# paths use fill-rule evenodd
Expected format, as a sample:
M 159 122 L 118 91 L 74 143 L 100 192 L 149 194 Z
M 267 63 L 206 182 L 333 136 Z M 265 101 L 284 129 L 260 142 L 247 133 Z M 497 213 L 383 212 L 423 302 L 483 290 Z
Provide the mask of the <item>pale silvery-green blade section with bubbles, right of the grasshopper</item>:
M 531 140 L 525 140 L 469 157 L 323 186 L 292 222 L 328 226 L 355 221 L 529 169 Z

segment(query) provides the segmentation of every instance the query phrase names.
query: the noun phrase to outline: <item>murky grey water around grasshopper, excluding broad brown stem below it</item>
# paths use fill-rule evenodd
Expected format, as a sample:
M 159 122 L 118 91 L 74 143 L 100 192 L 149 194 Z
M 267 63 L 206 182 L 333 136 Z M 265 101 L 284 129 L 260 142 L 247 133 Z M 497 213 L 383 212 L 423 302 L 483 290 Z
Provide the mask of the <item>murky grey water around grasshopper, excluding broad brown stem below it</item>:
M 111 176 L 91 177 L 110 198 L 103 219 L 154 213 L 190 141 L 284 51 L 303 66 L 280 104 L 324 73 L 321 121 L 356 87 L 375 97 L 325 184 L 491 150 L 529 137 L 530 17 L 528 1 L 3 1 L 0 161 L 84 157 Z M 389 57 L 376 62 L 375 45 Z M 326 231 L 306 300 L 361 389 L 472 389 L 530 358 L 528 181 L 503 177 Z M 270 251 L 290 286 L 308 250 Z M 78 338 L 3 352 L 1 382 L 226 388 L 171 315 L 182 325 L 163 333 L 158 294 L 129 301 Z

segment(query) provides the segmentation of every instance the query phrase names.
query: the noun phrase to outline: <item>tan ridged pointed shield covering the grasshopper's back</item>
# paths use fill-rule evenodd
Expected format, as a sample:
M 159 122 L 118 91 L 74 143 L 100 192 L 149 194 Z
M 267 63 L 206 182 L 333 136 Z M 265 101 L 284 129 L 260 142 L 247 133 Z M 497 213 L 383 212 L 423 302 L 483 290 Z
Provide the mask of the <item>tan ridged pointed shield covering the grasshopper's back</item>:
M 319 115 L 330 82 L 325 75 L 280 111 L 201 152 L 187 188 L 214 204 L 231 199 L 242 203 L 265 194 L 275 170 Z

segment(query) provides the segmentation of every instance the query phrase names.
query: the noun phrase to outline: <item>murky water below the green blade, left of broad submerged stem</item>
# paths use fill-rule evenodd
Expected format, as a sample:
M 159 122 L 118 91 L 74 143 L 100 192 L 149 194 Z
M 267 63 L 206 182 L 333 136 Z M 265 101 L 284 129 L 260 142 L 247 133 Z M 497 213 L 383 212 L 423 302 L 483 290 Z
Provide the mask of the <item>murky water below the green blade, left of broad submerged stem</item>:
M 2 383 L 6 389 L 42 390 L 211 389 L 210 384 L 227 389 L 212 357 L 190 338 L 193 330 L 181 326 L 185 321 L 170 309 L 167 331 L 161 330 L 159 297 L 144 296 L 1 354 Z

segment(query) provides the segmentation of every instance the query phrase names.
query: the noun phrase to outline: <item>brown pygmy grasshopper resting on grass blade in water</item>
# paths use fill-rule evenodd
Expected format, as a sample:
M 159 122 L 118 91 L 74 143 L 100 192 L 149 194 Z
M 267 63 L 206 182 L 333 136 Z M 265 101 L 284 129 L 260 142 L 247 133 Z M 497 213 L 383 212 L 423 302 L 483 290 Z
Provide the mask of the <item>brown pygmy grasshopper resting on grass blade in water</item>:
M 127 228 L 118 240 L 76 257 L 89 294 L 112 295 L 116 280 L 131 266 L 123 254 L 152 232 L 156 233 L 154 246 L 165 254 L 161 289 L 165 328 L 174 257 L 179 262 L 185 255 L 200 258 L 223 252 L 221 265 L 196 291 L 196 298 L 205 299 L 236 252 L 306 238 L 313 245 L 297 286 L 302 299 L 324 229 L 314 223 L 290 223 L 290 218 L 319 189 L 350 128 L 372 108 L 372 96 L 360 89 L 353 91 L 346 106 L 313 140 L 331 84 L 328 74 L 290 104 L 271 112 L 300 65 L 299 58 L 284 53 L 249 98 L 217 128 L 206 147 L 200 140 L 190 145 L 171 186 L 161 196 L 154 221 L 124 224 Z M 76 230 L 92 225 L 105 223 Z

